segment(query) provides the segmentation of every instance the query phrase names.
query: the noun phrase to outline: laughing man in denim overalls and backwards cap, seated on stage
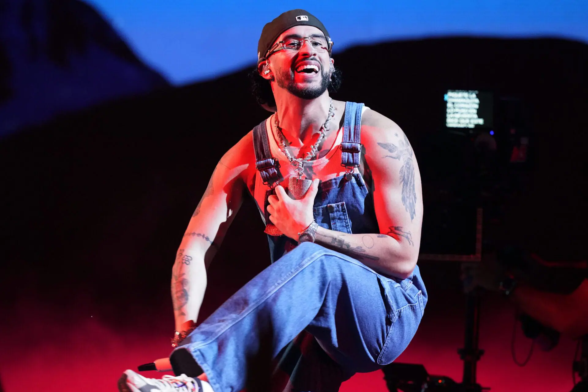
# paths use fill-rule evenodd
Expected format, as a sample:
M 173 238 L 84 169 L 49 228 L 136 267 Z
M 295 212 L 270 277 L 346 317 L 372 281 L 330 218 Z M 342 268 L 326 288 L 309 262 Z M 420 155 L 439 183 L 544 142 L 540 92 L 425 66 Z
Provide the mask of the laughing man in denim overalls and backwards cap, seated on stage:
M 394 122 L 329 97 L 329 37 L 302 9 L 263 28 L 258 73 L 273 96 L 260 100 L 275 114 L 220 159 L 173 267 L 181 345 L 170 361 L 181 376 L 127 370 L 121 391 L 239 391 L 264 349 L 277 368 L 272 390 L 336 391 L 392 362 L 414 336 L 427 301 L 416 266 L 418 165 Z M 194 328 L 206 266 L 245 187 L 273 263 Z

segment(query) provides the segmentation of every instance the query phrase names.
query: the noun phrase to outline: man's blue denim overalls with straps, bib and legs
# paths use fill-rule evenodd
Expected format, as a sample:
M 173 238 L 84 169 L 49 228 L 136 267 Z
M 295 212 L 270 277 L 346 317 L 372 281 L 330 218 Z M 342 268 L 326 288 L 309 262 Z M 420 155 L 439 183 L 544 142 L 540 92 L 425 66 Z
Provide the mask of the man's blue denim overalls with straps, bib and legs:
M 346 103 L 346 167 L 359 166 L 362 106 Z M 265 121 L 253 139 L 259 175 L 275 185 L 281 176 Z M 313 211 L 326 229 L 379 233 L 360 173 L 320 183 Z M 266 208 L 264 213 L 269 222 Z M 242 390 L 257 377 L 255 367 L 269 369 L 259 377 L 272 378 L 272 391 L 338 391 L 353 373 L 377 370 L 406 349 L 427 301 L 418 266 L 411 277 L 393 279 L 319 244 L 268 237 L 272 264 L 186 337 L 171 356 L 176 374 L 185 373 L 193 357 L 215 392 Z M 292 250 L 284 254 L 286 249 Z M 259 363 L 264 350 L 271 367 Z

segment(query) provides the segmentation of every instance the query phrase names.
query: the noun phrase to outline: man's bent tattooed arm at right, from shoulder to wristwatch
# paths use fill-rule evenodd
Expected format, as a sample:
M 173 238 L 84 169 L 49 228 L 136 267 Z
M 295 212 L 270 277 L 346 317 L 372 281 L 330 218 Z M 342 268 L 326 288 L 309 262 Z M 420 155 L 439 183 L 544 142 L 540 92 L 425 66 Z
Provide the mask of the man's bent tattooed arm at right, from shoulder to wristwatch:
M 363 115 L 362 142 L 380 233 L 345 234 L 319 227 L 316 242 L 404 279 L 415 269 L 423 219 L 416 158 L 402 129 L 373 110 Z

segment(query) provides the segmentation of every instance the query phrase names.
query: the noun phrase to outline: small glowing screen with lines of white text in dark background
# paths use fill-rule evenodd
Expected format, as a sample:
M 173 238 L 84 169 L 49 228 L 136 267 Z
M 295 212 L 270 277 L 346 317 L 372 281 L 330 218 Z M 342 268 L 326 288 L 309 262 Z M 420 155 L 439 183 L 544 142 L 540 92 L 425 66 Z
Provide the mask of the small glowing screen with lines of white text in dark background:
M 447 90 L 447 128 L 492 128 L 492 92 Z

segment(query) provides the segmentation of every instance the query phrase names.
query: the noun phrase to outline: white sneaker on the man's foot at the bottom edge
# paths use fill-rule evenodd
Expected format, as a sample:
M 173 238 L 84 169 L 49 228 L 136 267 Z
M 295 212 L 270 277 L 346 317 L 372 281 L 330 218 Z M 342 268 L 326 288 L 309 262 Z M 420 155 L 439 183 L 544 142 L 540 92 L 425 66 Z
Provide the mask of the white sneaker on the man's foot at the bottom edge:
M 201 392 L 202 382 L 199 378 L 169 376 L 166 374 L 158 378 L 147 378 L 132 370 L 126 370 L 118 380 L 118 390 L 121 392 Z

